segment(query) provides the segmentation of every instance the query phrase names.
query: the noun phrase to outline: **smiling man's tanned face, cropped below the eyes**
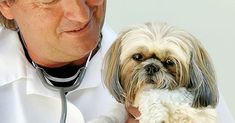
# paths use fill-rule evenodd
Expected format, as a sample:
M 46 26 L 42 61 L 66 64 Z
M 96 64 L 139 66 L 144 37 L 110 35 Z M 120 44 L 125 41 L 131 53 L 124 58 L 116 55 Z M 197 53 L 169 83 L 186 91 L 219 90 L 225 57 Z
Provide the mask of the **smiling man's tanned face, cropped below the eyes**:
M 61 66 L 89 54 L 99 42 L 106 0 L 16 0 L 13 18 L 30 57 Z

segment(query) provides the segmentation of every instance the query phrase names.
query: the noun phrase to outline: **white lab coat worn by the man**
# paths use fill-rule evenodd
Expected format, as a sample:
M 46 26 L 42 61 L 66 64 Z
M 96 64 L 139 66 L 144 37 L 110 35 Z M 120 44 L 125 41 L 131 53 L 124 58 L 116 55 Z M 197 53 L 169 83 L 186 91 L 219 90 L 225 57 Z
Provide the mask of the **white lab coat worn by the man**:
M 116 34 L 103 28 L 101 49 L 91 59 L 81 86 L 67 95 L 66 123 L 83 123 L 108 113 L 115 103 L 101 83 L 101 62 Z M 234 123 L 223 99 L 218 106 L 220 123 Z M 40 82 L 27 61 L 14 31 L 0 27 L 0 123 L 59 123 L 59 93 Z

